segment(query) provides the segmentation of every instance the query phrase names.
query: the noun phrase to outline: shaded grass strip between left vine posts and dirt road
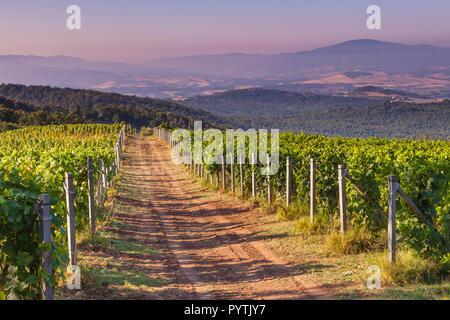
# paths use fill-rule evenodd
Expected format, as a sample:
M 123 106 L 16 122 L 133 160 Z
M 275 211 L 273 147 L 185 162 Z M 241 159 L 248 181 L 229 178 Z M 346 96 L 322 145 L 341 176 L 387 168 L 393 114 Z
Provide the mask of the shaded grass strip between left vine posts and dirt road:
M 152 273 L 146 272 L 152 266 L 151 256 L 158 254 L 158 251 L 146 245 L 148 238 L 144 239 L 139 232 L 129 235 L 130 231 L 139 231 L 138 225 L 127 224 L 115 216 L 118 212 L 129 212 L 132 206 L 117 201 L 115 196 L 120 193 L 138 199 L 141 190 L 123 174 L 114 185 L 120 185 L 120 190 L 108 190 L 109 201 L 105 203 L 105 208 L 97 211 L 96 233 L 93 235 L 89 229 L 77 232 L 77 260 L 81 269 L 82 290 L 95 288 L 95 291 L 107 292 L 111 299 L 120 299 L 124 293 L 137 295 L 153 292 L 154 288 L 164 286 L 169 280 L 163 275 L 152 276 Z M 136 255 L 145 256 L 146 262 L 140 263 Z M 82 291 L 65 288 L 65 279 L 59 279 L 56 299 L 83 299 Z

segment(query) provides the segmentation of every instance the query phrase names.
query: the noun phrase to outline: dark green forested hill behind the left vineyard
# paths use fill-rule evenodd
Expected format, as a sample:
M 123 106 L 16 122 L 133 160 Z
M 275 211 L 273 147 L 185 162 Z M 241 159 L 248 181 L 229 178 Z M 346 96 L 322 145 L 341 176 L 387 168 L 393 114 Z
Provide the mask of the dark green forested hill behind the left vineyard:
M 124 121 L 134 127 L 166 123 L 171 126 L 191 128 L 194 119 L 202 120 L 206 127 L 208 125 L 221 127 L 220 123 L 223 121 L 220 117 L 208 112 L 188 108 L 170 101 L 93 90 L 3 84 L 0 85 L 0 95 L 7 99 L 35 106 L 25 106 L 23 103 L 13 101 L 7 108 L 16 111 L 16 113 L 17 111 L 41 111 L 53 116 L 53 114 L 62 112 L 77 117 L 77 119 L 68 121 L 71 123 L 79 122 L 78 120 L 95 123 Z M 21 115 L 21 118 L 25 117 L 23 114 Z M 32 117 L 34 118 L 34 116 Z M 45 123 L 34 122 L 32 124 Z

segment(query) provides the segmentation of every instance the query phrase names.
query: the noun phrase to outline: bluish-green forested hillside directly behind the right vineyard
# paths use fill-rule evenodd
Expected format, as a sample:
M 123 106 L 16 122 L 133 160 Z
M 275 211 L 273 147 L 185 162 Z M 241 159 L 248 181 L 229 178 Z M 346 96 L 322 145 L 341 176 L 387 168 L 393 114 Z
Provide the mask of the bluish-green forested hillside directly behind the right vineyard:
M 262 116 L 234 119 L 242 128 L 278 128 L 282 131 L 343 137 L 450 138 L 450 100 L 440 103 L 384 103 L 369 108 L 310 112 L 295 117 Z

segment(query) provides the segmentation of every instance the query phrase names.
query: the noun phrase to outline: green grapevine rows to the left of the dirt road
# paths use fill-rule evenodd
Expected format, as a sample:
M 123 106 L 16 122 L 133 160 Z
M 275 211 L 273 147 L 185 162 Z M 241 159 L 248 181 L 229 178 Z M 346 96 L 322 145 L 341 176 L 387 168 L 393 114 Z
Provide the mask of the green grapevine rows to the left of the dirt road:
M 116 142 L 123 125 L 30 127 L 0 134 L 0 300 L 39 298 L 42 279 L 55 281 L 41 267 L 49 248 L 39 239 L 35 206 L 50 197 L 51 252 L 55 272 L 68 263 L 66 173 L 73 174 L 75 226 L 89 224 L 87 159 L 98 181 L 117 160 Z M 107 172 L 106 182 L 114 171 Z M 97 190 L 98 191 L 98 190 Z

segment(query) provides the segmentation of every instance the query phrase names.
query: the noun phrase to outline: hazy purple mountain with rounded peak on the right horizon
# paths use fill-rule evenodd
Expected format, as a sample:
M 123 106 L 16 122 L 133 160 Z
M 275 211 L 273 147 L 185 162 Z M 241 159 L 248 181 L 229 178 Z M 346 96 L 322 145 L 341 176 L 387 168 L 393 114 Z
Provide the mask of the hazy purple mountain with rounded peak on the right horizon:
M 310 51 L 261 54 L 226 54 L 161 59 L 150 63 L 186 72 L 216 76 L 251 76 L 297 79 L 332 71 L 383 71 L 389 73 L 437 73 L 450 66 L 450 48 L 404 45 L 377 40 L 350 40 Z M 450 75 L 450 70 L 445 74 Z

